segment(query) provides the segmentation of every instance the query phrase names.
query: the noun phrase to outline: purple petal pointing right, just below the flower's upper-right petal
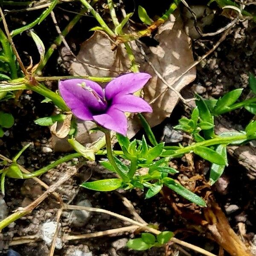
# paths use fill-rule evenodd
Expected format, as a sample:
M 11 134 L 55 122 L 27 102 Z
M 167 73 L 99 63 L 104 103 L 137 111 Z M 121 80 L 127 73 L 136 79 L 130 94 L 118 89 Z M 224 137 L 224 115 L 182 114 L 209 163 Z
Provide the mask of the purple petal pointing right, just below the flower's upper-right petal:
M 132 94 L 116 95 L 112 106 L 124 112 L 152 112 L 152 108 L 144 99 Z

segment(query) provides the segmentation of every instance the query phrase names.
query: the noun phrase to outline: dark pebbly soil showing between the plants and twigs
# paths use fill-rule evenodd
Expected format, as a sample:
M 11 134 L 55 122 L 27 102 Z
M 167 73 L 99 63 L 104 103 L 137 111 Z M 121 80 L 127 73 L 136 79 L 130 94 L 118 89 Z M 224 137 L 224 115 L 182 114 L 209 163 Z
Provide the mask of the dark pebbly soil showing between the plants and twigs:
M 79 5 L 65 3 L 61 5 L 61 8 L 78 10 Z M 162 9 L 164 9 L 164 6 L 160 8 L 160 10 L 155 10 L 154 15 L 161 13 Z M 36 11 L 36 13 L 33 13 L 32 17 L 27 18 L 33 20 L 33 17 L 36 17 L 39 13 L 40 12 Z M 73 14 L 57 8 L 55 15 L 59 25 L 63 27 Z M 9 15 L 8 17 L 9 20 L 7 21 L 11 29 L 16 27 L 17 23 L 24 18 L 22 13 Z M 87 23 L 88 20 L 90 20 L 90 25 Z M 79 44 L 89 37 L 89 34 L 83 31 L 88 31 L 89 28 L 93 27 L 94 22 L 92 17 L 85 17 L 68 35 L 67 42 L 70 44 L 75 54 L 79 51 Z M 212 23 L 205 27 L 204 32 L 216 31 L 228 22 L 228 18 L 217 13 Z M 48 29 L 42 29 L 42 26 L 48 26 Z M 56 36 L 55 27 L 52 26 L 50 18 L 47 18 L 42 26 L 40 27 L 41 29 L 36 30 L 36 32 L 41 38 L 48 38 L 47 42 L 50 44 Z M 249 94 L 247 88 L 248 73 L 256 73 L 255 34 L 255 23 L 248 20 L 238 22 L 220 47 L 197 66 L 197 78 L 192 84 L 189 84 L 187 88 L 201 93 L 204 97 L 217 98 L 229 90 L 243 87 L 245 90 L 242 97 L 246 98 Z M 77 35 L 79 35 L 79 37 Z M 212 45 L 218 41 L 219 37 L 220 35 L 194 39 L 192 41 L 192 48 L 195 59 L 212 48 Z M 25 63 L 28 62 L 29 55 L 32 55 L 33 58 L 37 56 L 37 54 L 35 54 L 35 52 L 37 52 L 36 48 L 28 47 L 26 40 L 31 41 L 26 33 L 15 38 L 15 45 L 18 51 L 23 52 L 22 58 Z M 46 47 L 48 47 L 48 45 L 46 45 Z M 68 73 L 63 64 L 64 62 L 61 61 L 59 57 L 59 53 L 60 52 L 56 51 L 52 56 L 49 65 L 47 65 L 47 68 L 44 70 L 45 76 L 66 75 Z M 37 62 L 37 58 L 38 57 L 35 57 L 34 59 L 35 63 Z M 57 88 L 56 83 L 48 85 L 52 90 Z M 49 116 L 54 111 L 54 106 L 51 103 L 41 103 L 42 100 L 43 97 L 40 95 L 28 91 L 24 92 L 18 101 L 11 99 L 7 102 L 1 102 L 1 109 L 15 116 L 15 125 L 8 129 L 6 136 L 0 139 L 0 152 L 4 156 L 12 158 L 22 146 L 32 142 L 32 145 L 23 153 L 23 156 L 20 157 L 18 162 L 30 171 L 40 169 L 64 155 L 64 153 L 45 153 L 42 151 L 43 147 L 51 148 L 49 128 L 35 125 L 34 120 L 38 117 Z M 166 119 L 163 124 L 154 128 L 157 136 L 159 138 L 162 137 L 166 125 L 172 126 L 177 124 L 177 120 L 183 113 L 183 105 L 177 105 L 172 116 Z M 239 116 L 239 118 L 237 118 L 237 116 Z M 253 115 L 245 110 L 238 110 L 225 115 L 225 117 L 236 125 L 244 126 L 253 118 Z M 137 136 L 140 137 L 140 133 Z M 47 174 L 42 175 L 41 180 L 51 185 L 61 177 L 67 168 L 78 162 L 79 159 L 73 159 L 68 163 L 62 164 L 56 169 L 49 171 Z M 181 170 L 186 170 L 188 161 L 183 158 L 176 161 L 174 164 Z M 254 246 L 254 248 L 256 248 L 256 191 L 254 189 L 256 181 L 250 180 L 247 177 L 246 170 L 239 165 L 236 159 L 230 158 L 229 164 L 224 175 L 213 186 L 213 194 L 218 204 L 226 213 L 233 230 L 243 236 L 243 239 L 251 241 L 252 247 Z M 209 169 L 207 163 L 202 164 L 198 159 L 195 159 L 195 166 L 201 166 L 201 169 L 199 168 L 201 173 L 205 173 Z M 79 184 L 86 180 L 90 174 L 92 175 L 92 180 L 113 177 L 113 174 L 98 165 L 86 164 L 79 169 L 78 175 L 70 178 L 70 180 L 64 183 L 56 192 L 61 195 L 61 198 L 66 203 L 79 204 L 81 201 L 87 199 L 93 207 L 108 209 L 132 218 L 131 212 L 122 204 L 122 199 L 119 196 L 122 195 L 132 202 L 134 208 L 146 222 L 159 225 L 160 230 L 177 231 L 177 238 L 218 254 L 218 244 L 203 235 L 198 236 L 195 230 L 192 231 L 189 227 L 191 223 L 175 214 L 175 211 L 166 203 L 161 195 L 145 200 L 144 193 L 137 190 L 106 193 L 93 192 L 79 187 Z M 41 195 L 43 191 L 44 189 L 32 180 L 24 181 L 7 178 L 4 201 L 8 206 L 9 212 L 12 212 L 17 209 L 17 207 L 25 207 L 31 203 L 35 198 Z M 6 253 L 9 248 L 12 248 L 20 253 L 21 256 L 34 256 L 35 254 L 47 256 L 49 247 L 44 241 L 37 238 L 40 237 L 40 229 L 43 223 L 55 221 L 58 206 L 56 199 L 53 196 L 49 196 L 49 198 L 36 207 L 30 215 L 20 218 L 15 224 L 6 227 L 3 233 L 0 234 L 0 253 Z M 128 224 L 119 219 L 112 218 L 109 215 L 99 213 L 91 213 L 89 218 L 82 217 L 80 222 L 84 222 L 84 224 L 82 225 L 80 223 L 81 226 L 74 224 L 70 212 L 64 212 L 60 221 L 61 234 L 79 235 L 93 233 L 124 227 Z M 246 233 L 242 232 L 241 227 L 246 228 Z M 13 237 L 20 236 L 34 236 L 37 241 L 9 247 L 9 242 L 12 241 Z M 136 234 L 123 233 L 94 239 L 62 241 L 62 248 L 55 249 L 54 255 L 198 255 L 185 248 L 185 250 L 191 253 L 186 254 L 180 247 L 175 245 L 172 246 L 172 249 L 169 248 L 168 253 L 166 253 L 166 248 L 152 248 L 145 252 L 132 251 L 125 247 L 125 243 L 127 239 L 133 238 L 134 236 L 136 236 Z M 76 251 L 76 253 L 80 251 L 84 254 L 75 254 L 74 252 L 72 254 L 72 251 Z M 256 255 L 256 253 L 254 255 Z

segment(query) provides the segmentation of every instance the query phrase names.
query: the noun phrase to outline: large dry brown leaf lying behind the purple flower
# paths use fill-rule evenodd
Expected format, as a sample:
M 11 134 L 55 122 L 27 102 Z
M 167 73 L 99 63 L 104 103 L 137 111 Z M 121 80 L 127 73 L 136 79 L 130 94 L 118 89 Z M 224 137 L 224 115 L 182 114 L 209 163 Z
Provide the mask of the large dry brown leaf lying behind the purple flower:
M 189 46 L 189 38 L 183 30 L 183 22 L 180 14 L 171 15 L 169 20 L 159 27 L 154 37 L 158 41 L 157 47 L 149 47 L 147 58 L 151 61 L 157 71 L 170 84 L 177 79 L 193 63 L 192 50 Z M 118 76 L 118 74 L 129 72 L 131 62 L 128 59 L 123 45 L 119 45 L 114 51 L 111 49 L 111 41 L 102 33 L 95 32 L 91 38 L 81 45 L 77 56 L 79 61 L 71 64 L 74 76 Z M 148 102 L 155 99 L 160 93 L 166 90 L 166 84 L 161 81 L 154 73 L 152 67 L 145 61 L 139 47 L 135 41 L 131 43 L 136 61 L 140 64 L 140 71 L 151 74 L 152 78 L 144 87 L 144 99 Z M 90 64 L 94 67 L 88 67 L 84 64 Z M 95 68 L 99 67 L 99 68 Z M 195 69 L 190 70 L 183 75 L 172 86 L 180 91 L 183 87 L 195 79 Z M 102 85 L 104 86 L 104 85 Z M 178 96 L 172 90 L 166 90 L 153 104 L 153 113 L 147 113 L 147 118 L 151 126 L 160 124 L 166 117 L 169 117 L 175 105 L 178 102 Z M 79 125 L 79 135 L 76 139 L 80 143 L 92 142 L 91 135 L 88 133 L 88 126 L 91 122 L 85 122 L 85 125 Z M 129 119 L 128 137 L 133 137 L 140 129 L 138 122 Z M 95 140 L 99 134 L 93 134 Z M 67 151 L 67 143 L 61 142 L 56 137 L 52 139 L 55 150 Z

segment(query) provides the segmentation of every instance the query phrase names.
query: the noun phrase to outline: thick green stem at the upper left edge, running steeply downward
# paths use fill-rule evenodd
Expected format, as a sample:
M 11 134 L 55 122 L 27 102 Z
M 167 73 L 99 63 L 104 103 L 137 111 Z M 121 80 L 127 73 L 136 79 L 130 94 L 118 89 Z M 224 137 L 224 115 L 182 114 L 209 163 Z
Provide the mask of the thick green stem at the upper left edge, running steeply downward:
M 2 29 L 0 29 L 0 41 L 3 47 L 3 51 L 7 58 L 7 63 L 9 64 L 9 67 L 10 67 L 11 78 L 16 79 L 18 77 L 17 66 L 16 66 L 15 58 L 12 52 L 12 47 Z

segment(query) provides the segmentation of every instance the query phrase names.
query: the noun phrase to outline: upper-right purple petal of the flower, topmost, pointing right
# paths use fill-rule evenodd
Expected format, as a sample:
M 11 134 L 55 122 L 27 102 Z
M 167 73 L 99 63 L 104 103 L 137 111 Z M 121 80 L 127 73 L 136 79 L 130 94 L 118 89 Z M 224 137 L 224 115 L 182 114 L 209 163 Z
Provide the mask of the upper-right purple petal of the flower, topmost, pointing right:
M 137 90 L 140 90 L 150 78 L 151 76 L 147 73 L 129 73 L 119 76 L 107 84 L 105 97 L 107 100 L 110 100 L 119 93 L 135 93 Z

